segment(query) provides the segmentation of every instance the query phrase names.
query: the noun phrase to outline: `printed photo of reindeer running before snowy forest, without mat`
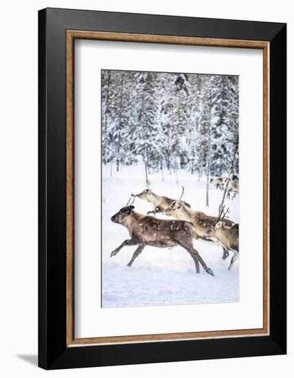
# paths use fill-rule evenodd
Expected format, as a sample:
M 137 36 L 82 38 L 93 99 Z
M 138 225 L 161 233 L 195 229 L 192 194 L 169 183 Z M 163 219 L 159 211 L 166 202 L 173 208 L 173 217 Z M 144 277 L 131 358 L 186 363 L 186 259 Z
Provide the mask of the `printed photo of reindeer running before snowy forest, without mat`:
M 102 307 L 239 301 L 239 77 L 101 71 Z

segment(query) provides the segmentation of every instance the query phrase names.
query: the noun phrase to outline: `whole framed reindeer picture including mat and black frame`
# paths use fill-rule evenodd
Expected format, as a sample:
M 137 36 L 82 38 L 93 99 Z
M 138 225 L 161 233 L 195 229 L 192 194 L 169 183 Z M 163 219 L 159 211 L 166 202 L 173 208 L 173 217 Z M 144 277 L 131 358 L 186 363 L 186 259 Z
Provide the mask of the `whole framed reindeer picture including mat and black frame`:
M 39 366 L 286 353 L 286 24 L 38 17 Z

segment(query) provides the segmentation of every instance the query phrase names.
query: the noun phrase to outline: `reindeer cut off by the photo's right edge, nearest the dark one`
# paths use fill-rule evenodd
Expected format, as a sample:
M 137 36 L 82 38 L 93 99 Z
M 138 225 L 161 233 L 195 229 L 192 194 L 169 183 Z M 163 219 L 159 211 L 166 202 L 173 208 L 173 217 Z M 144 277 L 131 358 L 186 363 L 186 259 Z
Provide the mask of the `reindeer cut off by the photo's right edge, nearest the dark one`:
M 221 210 L 218 219 L 216 219 L 210 228 L 207 229 L 205 236 L 217 241 L 228 251 L 234 252 L 228 268 L 231 269 L 231 266 L 234 264 L 239 254 L 239 225 L 238 223 L 231 226 L 226 225 L 223 221 L 225 219 L 226 212 L 224 212 L 223 209 Z

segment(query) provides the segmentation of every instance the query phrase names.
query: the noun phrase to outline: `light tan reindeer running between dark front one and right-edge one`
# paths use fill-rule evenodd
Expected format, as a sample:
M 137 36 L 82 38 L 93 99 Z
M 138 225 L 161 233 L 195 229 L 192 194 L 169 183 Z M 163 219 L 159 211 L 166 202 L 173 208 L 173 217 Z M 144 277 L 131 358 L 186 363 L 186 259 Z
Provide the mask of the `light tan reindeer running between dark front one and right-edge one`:
M 205 232 L 207 231 L 207 227 L 211 227 L 214 222 L 218 219 L 217 216 L 210 216 L 205 214 L 201 211 L 193 211 L 191 208 L 188 208 L 181 198 L 183 197 L 185 188 L 182 187 L 182 194 L 181 197 L 177 201 L 173 201 L 168 208 L 164 210 L 164 214 L 168 216 L 172 216 L 176 219 L 183 219 L 184 221 L 192 222 L 194 225 L 194 232 L 196 238 L 199 238 L 203 241 L 212 241 L 211 238 L 205 236 Z M 230 221 L 227 218 L 223 219 L 225 225 L 231 227 L 234 225 L 234 222 Z M 229 250 L 223 247 L 223 260 L 225 260 L 229 256 Z

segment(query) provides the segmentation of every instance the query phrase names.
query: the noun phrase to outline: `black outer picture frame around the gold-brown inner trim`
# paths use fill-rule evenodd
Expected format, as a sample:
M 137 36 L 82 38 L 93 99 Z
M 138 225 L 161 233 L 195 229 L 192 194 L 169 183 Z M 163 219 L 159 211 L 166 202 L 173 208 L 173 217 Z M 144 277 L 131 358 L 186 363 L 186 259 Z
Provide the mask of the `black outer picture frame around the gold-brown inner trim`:
M 67 30 L 269 42 L 269 335 L 67 347 Z M 38 67 L 38 366 L 285 354 L 286 24 L 47 8 L 38 12 Z

